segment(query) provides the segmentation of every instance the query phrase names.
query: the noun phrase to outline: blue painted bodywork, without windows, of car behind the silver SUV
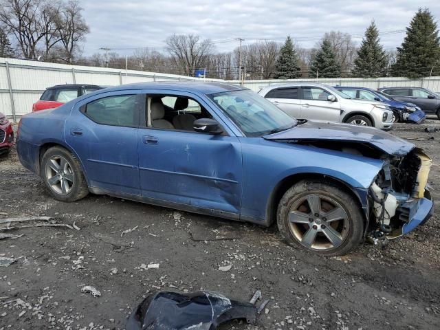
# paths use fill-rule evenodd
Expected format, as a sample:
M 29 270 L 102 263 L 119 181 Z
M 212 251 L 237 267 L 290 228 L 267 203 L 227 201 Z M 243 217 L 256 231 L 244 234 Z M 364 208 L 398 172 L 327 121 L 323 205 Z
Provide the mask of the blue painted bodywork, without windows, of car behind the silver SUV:
M 384 94 L 379 93 L 371 88 L 366 87 L 346 87 L 346 86 L 336 86 L 336 89 L 339 91 L 342 90 L 355 90 L 355 91 L 369 91 L 375 96 L 375 100 L 384 102 L 389 105 L 392 110 L 395 110 L 399 113 L 399 121 L 409 121 L 420 124 L 423 120 L 426 119 L 426 113 L 423 112 L 419 107 L 417 107 L 414 103 L 408 102 L 400 102 L 393 100 L 391 97 L 384 96 Z

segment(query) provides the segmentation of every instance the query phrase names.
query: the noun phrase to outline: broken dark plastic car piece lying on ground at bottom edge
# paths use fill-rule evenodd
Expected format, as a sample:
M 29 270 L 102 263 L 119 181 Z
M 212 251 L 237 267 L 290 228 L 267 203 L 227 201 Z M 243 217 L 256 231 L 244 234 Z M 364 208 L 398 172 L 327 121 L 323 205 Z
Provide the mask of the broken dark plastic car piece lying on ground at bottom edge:
M 234 319 L 253 324 L 256 307 L 230 300 L 217 292 L 158 292 L 148 296 L 133 311 L 126 330 L 214 330 Z

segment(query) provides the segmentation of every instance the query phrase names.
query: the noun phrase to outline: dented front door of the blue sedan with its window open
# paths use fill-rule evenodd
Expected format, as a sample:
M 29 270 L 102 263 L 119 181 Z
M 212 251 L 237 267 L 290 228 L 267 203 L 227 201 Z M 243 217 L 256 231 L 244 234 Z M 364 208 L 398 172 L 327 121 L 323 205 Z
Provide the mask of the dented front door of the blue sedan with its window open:
M 220 119 L 203 100 L 177 93 L 147 93 L 144 128 L 137 135 L 142 197 L 155 203 L 238 217 L 241 144 L 228 133 L 197 133 L 192 122 Z

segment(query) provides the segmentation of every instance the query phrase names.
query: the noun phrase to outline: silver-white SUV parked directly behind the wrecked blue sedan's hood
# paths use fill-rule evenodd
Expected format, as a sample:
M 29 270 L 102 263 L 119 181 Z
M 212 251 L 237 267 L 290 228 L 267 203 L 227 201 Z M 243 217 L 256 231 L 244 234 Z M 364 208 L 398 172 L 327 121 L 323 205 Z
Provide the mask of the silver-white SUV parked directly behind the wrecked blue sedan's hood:
M 271 85 L 259 94 L 298 119 L 344 122 L 389 130 L 393 111 L 388 105 L 351 99 L 333 87 L 314 83 Z

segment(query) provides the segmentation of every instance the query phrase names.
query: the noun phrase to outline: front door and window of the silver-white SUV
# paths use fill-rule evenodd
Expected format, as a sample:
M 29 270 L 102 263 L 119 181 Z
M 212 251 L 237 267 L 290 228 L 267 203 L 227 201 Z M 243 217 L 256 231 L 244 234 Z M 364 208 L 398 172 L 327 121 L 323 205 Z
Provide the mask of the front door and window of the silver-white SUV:
M 340 96 L 335 96 L 336 101 L 329 101 L 327 98 L 332 94 L 321 87 L 314 86 L 303 86 L 301 92 L 301 115 L 299 118 L 339 122 Z

